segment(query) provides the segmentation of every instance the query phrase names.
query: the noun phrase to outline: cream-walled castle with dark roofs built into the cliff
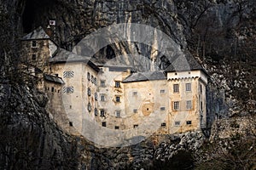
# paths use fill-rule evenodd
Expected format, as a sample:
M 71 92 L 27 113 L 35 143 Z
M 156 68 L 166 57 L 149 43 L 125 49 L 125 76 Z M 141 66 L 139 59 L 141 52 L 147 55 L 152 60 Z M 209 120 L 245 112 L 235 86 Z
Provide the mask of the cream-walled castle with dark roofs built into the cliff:
M 190 70 L 137 72 L 58 48 L 41 27 L 22 44 L 31 74 L 40 78 L 38 89 L 48 95 L 47 108 L 64 129 L 94 130 L 89 120 L 113 130 L 144 127 L 143 133 L 152 126 L 163 134 L 207 126 L 208 76 L 191 55 Z

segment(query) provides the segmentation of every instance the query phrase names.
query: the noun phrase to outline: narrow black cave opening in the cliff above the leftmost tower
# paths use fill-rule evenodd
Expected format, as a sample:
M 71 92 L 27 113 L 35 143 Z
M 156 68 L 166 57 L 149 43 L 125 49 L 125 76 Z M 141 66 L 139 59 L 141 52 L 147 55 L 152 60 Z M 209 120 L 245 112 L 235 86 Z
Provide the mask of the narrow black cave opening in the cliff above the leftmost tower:
M 26 6 L 22 14 L 23 31 L 28 33 L 32 31 L 32 26 L 35 20 L 36 8 L 34 0 L 26 0 Z

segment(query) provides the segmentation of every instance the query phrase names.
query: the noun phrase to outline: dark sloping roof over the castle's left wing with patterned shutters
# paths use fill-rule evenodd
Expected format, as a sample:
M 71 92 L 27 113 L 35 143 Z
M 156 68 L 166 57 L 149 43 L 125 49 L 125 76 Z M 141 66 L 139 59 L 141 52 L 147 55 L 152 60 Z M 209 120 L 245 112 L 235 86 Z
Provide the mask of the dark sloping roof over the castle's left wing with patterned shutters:
M 84 57 L 73 52 L 67 51 L 63 48 L 58 48 L 52 58 L 49 58 L 49 63 L 69 63 L 69 62 L 84 62 L 90 65 L 95 71 L 100 71 L 94 63 L 90 61 L 89 57 Z

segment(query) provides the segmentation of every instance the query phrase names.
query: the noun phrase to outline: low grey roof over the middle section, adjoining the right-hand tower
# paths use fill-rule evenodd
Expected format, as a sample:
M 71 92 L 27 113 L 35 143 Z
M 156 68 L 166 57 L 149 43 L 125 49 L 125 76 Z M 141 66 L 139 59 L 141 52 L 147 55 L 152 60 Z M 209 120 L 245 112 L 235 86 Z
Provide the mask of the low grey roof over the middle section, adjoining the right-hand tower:
M 136 72 L 126 77 L 123 82 L 143 82 L 150 80 L 166 80 L 166 75 L 163 71 Z

